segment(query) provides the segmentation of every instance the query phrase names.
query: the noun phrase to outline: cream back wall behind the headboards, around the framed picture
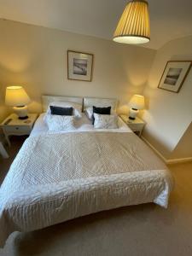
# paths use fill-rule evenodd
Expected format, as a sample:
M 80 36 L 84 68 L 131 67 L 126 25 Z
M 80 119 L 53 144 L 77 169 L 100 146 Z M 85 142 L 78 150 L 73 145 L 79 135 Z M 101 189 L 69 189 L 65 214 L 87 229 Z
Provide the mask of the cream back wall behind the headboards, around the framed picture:
M 0 119 L 7 85 L 21 84 L 41 112 L 41 95 L 116 97 L 121 112 L 132 94 L 142 93 L 155 51 L 113 41 L 0 20 Z M 93 80 L 67 80 L 67 49 L 94 54 Z

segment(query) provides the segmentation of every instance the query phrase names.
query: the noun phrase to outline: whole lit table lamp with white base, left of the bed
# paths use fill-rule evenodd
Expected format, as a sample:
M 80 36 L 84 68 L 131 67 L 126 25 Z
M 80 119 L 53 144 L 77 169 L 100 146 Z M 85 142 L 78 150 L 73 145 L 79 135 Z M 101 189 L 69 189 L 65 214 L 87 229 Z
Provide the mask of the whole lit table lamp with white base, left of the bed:
M 22 86 L 9 86 L 6 88 L 5 104 L 13 107 L 19 119 L 27 119 L 27 104 L 31 102 L 26 90 Z

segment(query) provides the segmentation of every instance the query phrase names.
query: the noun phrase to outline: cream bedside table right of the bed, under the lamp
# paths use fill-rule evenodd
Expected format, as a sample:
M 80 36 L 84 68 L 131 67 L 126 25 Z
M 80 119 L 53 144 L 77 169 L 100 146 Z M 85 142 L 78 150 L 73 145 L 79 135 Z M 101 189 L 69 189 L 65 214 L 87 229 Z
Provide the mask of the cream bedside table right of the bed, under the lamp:
M 125 122 L 126 125 L 130 127 L 132 131 L 138 133 L 138 136 L 141 137 L 145 122 L 142 119 L 136 118 L 134 120 L 129 119 L 128 115 L 121 114 L 120 118 Z

